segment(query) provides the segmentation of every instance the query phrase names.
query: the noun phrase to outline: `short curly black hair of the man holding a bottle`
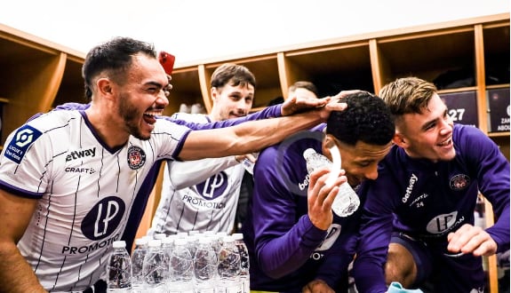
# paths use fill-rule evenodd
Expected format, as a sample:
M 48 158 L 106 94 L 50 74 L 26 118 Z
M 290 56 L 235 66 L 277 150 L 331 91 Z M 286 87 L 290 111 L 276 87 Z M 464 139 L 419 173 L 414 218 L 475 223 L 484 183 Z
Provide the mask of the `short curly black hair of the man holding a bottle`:
M 339 99 L 344 111 L 333 111 L 326 122 L 326 133 L 350 146 L 357 141 L 385 146 L 395 134 L 394 116 L 385 102 L 367 91 L 357 91 Z

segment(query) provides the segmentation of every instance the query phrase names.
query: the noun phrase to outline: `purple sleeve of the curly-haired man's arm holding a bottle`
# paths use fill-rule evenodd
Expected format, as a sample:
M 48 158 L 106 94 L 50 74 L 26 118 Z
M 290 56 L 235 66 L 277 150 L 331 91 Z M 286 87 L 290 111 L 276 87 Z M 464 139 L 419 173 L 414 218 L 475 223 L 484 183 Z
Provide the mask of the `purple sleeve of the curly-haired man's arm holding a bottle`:
M 275 152 L 267 148 L 259 154 L 252 212 L 257 215 L 253 229 L 259 267 L 268 276 L 280 278 L 307 262 L 326 231 L 312 225 L 307 215 L 297 215 L 295 195 L 274 168 Z M 283 172 L 291 174 L 290 168 L 284 166 Z

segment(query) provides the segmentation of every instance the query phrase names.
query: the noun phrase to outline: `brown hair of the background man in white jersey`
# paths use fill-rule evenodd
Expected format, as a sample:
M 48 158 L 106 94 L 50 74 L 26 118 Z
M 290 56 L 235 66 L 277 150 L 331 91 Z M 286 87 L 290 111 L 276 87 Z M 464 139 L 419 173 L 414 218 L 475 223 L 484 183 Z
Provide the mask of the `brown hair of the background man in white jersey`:
M 213 72 L 211 86 L 221 89 L 226 84 L 233 86 L 252 84 L 255 88 L 256 81 L 249 68 L 234 63 L 224 63 Z

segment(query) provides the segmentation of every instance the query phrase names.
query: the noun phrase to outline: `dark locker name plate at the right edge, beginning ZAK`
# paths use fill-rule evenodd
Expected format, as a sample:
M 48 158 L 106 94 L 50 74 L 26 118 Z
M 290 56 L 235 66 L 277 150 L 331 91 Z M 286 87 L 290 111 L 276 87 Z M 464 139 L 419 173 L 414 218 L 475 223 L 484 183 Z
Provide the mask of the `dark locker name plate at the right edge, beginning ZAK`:
M 509 131 L 509 88 L 486 91 L 488 131 Z

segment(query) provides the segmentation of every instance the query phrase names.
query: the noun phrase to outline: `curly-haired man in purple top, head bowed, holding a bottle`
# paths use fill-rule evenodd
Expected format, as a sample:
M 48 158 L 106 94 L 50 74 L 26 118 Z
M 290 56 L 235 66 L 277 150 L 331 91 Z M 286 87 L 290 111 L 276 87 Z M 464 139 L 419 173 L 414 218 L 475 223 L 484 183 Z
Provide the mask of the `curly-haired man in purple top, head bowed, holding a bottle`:
M 328 193 L 324 168 L 309 176 L 303 153 L 313 148 L 331 159 L 330 148 L 337 146 L 347 182 L 358 186 L 378 177 L 378 162 L 391 147 L 395 127 L 383 100 L 369 92 L 352 93 L 340 102 L 347 108 L 332 112 L 326 124 L 259 154 L 243 226 L 252 290 L 347 292 L 359 213 L 345 218 L 332 213 L 338 188 Z

